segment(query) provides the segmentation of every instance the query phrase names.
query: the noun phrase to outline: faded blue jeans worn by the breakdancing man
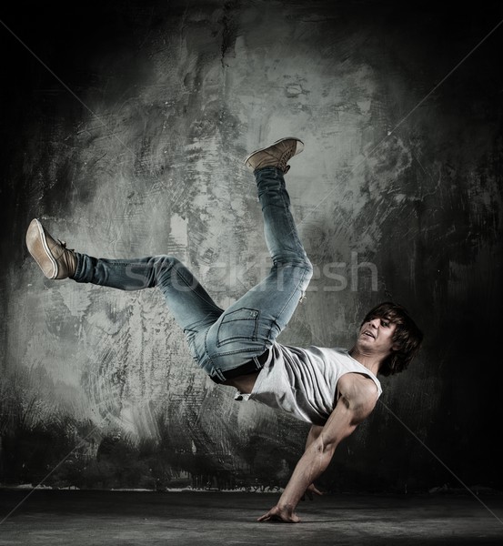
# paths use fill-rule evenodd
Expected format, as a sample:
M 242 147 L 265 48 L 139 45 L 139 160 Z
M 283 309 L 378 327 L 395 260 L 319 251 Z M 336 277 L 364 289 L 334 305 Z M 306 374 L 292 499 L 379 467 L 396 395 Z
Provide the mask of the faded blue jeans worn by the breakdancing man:
M 257 357 L 285 329 L 312 276 L 282 171 L 265 167 L 257 169 L 255 177 L 273 267 L 267 278 L 226 310 L 177 258 L 103 259 L 75 253 L 77 282 L 121 290 L 160 288 L 193 358 L 216 382 L 233 377 L 231 370 L 250 360 L 260 368 Z

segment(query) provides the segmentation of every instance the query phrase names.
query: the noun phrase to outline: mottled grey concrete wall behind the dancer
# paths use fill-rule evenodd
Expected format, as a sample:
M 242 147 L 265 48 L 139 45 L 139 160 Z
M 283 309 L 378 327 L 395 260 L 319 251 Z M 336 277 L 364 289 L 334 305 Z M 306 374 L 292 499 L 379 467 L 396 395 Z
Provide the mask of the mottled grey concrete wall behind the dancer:
M 2 482 L 35 483 L 78 446 L 46 483 L 284 483 L 307 425 L 206 379 L 156 290 L 46 280 L 24 236 L 40 217 L 91 255 L 175 254 L 226 307 L 267 268 L 242 159 L 295 135 L 287 184 L 317 275 L 280 340 L 349 347 L 388 298 L 426 335 L 325 485 L 458 487 L 420 440 L 468 484 L 501 486 L 503 27 L 449 73 L 503 14 L 397 6 L 5 15 Z

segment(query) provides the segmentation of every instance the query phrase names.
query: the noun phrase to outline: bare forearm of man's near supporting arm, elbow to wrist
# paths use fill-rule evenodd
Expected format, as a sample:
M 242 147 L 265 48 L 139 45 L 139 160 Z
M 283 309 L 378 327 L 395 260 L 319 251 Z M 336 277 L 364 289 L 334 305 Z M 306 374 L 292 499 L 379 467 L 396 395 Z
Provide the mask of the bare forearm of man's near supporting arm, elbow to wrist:
M 287 487 L 277 502 L 278 506 L 290 507 L 292 510 L 297 506 L 307 488 L 313 481 L 317 480 L 327 469 L 332 460 L 333 450 L 322 450 L 319 446 L 311 443 L 304 455 L 298 460 L 297 466 L 288 481 Z

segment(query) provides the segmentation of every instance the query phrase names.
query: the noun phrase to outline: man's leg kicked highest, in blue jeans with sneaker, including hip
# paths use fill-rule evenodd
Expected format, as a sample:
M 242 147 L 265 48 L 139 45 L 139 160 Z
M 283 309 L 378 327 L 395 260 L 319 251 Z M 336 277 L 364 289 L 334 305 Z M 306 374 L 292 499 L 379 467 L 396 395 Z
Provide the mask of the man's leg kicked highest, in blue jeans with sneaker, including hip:
M 278 144 L 280 153 L 276 153 Z M 312 276 L 311 263 L 298 238 L 290 211 L 283 177 L 287 171 L 285 157 L 289 159 L 296 151 L 298 153 L 297 146 L 295 139 L 285 139 L 265 148 L 261 154 L 257 153 L 258 157 L 252 155 L 246 159 L 257 180 L 264 233 L 273 267 L 267 278 L 227 308 L 208 330 L 208 356 L 214 374 L 220 380 L 230 377 L 230 370 L 246 365 L 272 346 L 287 326 Z M 267 159 L 269 152 L 273 152 L 271 160 Z

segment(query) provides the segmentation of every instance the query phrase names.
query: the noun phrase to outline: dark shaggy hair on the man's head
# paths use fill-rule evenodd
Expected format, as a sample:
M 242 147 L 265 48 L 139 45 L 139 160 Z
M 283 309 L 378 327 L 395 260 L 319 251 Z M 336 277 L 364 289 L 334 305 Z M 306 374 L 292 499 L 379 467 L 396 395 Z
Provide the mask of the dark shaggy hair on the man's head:
M 407 369 L 423 340 L 423 332 L 410 318 L 407 309 L 392 301 L 385 301 L 368 311 L 362 325 L 372 319 L 387 319 L 397 325 L 393 333 L 395 349 L 392 349 L 391 354 L 381 363 L 379 373 L 390 376 Z

